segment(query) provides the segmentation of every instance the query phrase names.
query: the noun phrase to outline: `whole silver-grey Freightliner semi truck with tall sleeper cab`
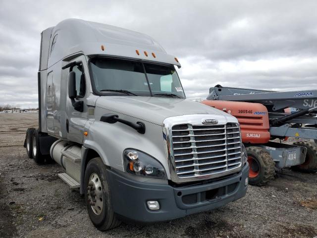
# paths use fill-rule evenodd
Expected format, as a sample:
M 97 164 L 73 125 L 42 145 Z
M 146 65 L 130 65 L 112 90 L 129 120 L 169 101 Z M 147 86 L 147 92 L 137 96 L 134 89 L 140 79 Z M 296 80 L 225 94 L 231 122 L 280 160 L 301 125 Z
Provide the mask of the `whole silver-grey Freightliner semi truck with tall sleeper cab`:
M 236 118 L 186 100 L 180 63 L 151 37 L 67 19 L 42 32 L 39 128 L 25 147 L 79 188 L 92 223 L 158 222 L 243 197 Z

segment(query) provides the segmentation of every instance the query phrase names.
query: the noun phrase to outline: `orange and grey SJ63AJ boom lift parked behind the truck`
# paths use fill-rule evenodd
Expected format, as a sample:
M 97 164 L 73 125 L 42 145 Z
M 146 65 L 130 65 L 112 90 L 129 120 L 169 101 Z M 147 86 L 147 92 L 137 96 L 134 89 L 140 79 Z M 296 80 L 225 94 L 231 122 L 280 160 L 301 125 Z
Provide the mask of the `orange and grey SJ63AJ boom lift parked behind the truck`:
M 264 185 L 274 178 L 275 169 L 292 167 L 303 172 L 317 171 L 315 142 L 289 145 L 272 141 L 287 140 L 289 136 L 316 141 L 317 105 L 309 104 L 310 100 L 317 102 L 315 94 L 316 90 L 274 92 L 216 85 L 210 88 L 208 100 L 202 103 L 238 119 L 248 153 L 249 182 Z M 290 113 L 291 106 L 299 111 Z M 303 126 L 304 123 L 308 125 Z

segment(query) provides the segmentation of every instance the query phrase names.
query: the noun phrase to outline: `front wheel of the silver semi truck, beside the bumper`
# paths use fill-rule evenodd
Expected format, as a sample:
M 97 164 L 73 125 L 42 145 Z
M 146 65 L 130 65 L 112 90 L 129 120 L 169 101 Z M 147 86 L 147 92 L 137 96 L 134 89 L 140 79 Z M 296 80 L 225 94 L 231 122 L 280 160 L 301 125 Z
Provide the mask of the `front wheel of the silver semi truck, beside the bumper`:
M 121 221 L 117 219 L 111 205 L 106 166 L 100 157 L 88 162 L 84 189 L 88 215 L 94 226 L 100 231 L 119 226 Z

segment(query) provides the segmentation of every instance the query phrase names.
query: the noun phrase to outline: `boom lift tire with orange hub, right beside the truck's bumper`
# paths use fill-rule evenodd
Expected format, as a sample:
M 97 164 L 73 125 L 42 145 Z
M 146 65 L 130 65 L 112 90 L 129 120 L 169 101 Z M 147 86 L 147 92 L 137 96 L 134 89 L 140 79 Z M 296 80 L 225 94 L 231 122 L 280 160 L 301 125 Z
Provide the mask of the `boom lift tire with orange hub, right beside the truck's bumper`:
M 259 146 L 249 146 L 246 149 L 250 167 L 249 183 L 263 186 L 274 179 L 275 162 L 271 155 Z

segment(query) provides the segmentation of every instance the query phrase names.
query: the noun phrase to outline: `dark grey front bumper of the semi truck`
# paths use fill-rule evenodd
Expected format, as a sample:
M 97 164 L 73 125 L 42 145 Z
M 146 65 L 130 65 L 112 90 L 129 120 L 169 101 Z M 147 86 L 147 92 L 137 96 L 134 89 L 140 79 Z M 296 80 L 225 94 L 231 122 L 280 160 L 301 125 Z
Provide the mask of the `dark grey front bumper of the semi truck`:
M 107 171 L 110 197 L 115 213 L 138 222 L 159 222 L 221 207 L 243 197 L 248 163 L 240 173 L 207 184 L 173 187 L 168 184 L 145 183 L 127 179 Z M 151 211 L 147 201 L 159 201 L 160 209 Z

